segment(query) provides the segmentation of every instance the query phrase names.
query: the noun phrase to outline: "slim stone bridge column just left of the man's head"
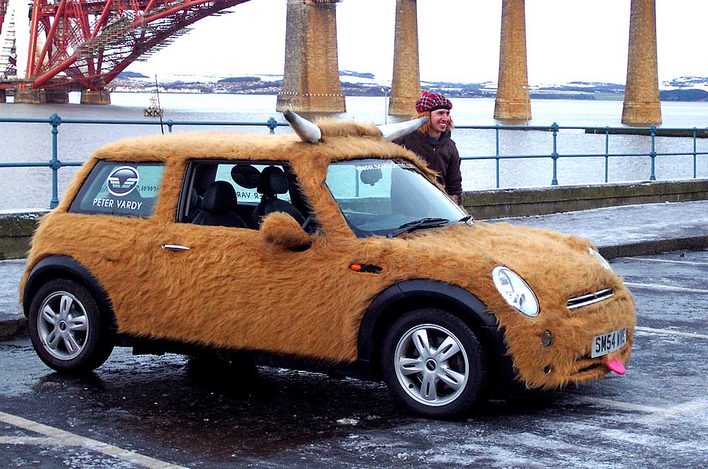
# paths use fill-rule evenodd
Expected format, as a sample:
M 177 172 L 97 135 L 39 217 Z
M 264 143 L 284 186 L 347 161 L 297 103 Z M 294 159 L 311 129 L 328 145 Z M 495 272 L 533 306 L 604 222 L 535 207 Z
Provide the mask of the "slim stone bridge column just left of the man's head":
M 418 58 L 418 4 L 396 0 L 394 79 L 391 84 L 390 115 L 414 115 L 421 97 L 421 68 Z

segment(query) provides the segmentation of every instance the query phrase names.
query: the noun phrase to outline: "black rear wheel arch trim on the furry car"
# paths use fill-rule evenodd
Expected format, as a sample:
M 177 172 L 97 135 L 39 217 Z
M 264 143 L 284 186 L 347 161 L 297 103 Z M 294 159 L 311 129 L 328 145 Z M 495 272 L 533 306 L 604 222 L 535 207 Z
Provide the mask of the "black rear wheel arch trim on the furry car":
M 43 283 L 52 278 L 67 278 L 81 283 L 93 295 L 93 299 L 96 300 L 96 305 L 98 305 L 101 313 L 109 319 L 108 329 L 111 332 L 115 332 L 118 329 L 115 314 L 113 313 L 113 304 L 110 302 L 108 293 L 101 285 L 101 282 L 93 276 L 93 273 L 86 266 L 76 261 L 73 257 L 59 254 L 44 257 L 32 267 L 22 293 L 22 306 L 25 317 L 30 315 L 30 305 L 37 290 Z

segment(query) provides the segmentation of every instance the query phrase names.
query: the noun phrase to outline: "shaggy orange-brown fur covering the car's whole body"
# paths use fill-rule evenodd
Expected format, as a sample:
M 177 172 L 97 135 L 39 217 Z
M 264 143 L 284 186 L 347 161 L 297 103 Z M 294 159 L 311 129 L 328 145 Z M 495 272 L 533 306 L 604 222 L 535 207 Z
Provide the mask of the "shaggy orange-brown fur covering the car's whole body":
M 607 372 L 605 361 L 615 356 L 627 363 L 634 300 L 619 277 L 588 253 L 588 241 L 484 222 L 358 239 L 325 186 L 329 162 L 397 157 L 416 164 L 430 180 L 433 173 L 411 152 L 384 142 L 372 126 L 319 125 L 317 145 L 295 136 L 197 134 L 138 138 L 98 149 L 59 207 L 42 220 L 22 284 L 39 259 L 66 254 L 108 291 L 120 332 L 351 362 L 357 358 L 362 314 L 376 295 L 406 279 L 430 278 L 465 288 L 487 305 L 505 331 L 520 379 L 530 387 L 600 378 Z M 97 159 L 165 162 L 155 215 L 143 220 L 67 213 Z M 289 160 L 322 231 L 309 238 L 310 249 L 292 252 L 256 230 L 174 222 L 189 159 Z M 266 222 L 282 222 L 281 215 Z M 183 244 L 190 251 L 169 252 L 160 244 Z M 376 264 L 383 271 L 357 273 L 349 269 L 353 263 Z M 491 279 L 498 265 L 532 287 L 538 317 L 521 315 L 503 300 Z M 615 295 L 572 313 L 566 308 L 568 298 L 603 288 L 614 288 Z M 585 358 L 595 335 L 620 327 L 628 328 L 630 345 L 621 354 Z M 545 330 L 553 334 L 548 347 L 540 343 Z M 546 374 L 549 364 L 553 370 Z

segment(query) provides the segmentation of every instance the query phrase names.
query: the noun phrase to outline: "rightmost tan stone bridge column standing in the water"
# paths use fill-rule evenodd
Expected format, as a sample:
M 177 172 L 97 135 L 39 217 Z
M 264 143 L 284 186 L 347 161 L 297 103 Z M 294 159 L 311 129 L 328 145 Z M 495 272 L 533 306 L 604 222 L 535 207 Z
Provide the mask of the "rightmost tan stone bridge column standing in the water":
M 656 1 L 632 0 L 623 124 L 661 124 L 656 62 Z

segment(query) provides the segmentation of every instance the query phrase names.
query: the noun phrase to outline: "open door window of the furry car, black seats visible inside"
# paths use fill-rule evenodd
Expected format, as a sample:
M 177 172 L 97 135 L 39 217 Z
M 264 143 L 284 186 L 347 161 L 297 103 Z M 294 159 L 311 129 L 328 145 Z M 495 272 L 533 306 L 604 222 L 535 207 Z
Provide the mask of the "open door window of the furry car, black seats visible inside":
M 304 223 L 307 203 L 282 162 L 195 161 L 188 166 L 178 222 L 258 230 L 273 211 Z

